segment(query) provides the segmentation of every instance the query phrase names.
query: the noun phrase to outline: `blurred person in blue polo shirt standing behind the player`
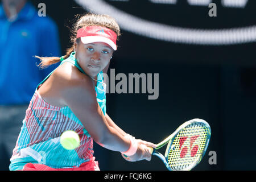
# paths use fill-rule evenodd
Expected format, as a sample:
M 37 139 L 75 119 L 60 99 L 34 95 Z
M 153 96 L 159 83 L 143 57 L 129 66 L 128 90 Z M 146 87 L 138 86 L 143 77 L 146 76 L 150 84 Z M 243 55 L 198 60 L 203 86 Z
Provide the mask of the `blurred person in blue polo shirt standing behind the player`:
M 60 55 L 57 26 L 27 0 L 0 4 L 0 170 L 9 170 L 34 88 L 57 65 L 39 69 L 35 55 Z

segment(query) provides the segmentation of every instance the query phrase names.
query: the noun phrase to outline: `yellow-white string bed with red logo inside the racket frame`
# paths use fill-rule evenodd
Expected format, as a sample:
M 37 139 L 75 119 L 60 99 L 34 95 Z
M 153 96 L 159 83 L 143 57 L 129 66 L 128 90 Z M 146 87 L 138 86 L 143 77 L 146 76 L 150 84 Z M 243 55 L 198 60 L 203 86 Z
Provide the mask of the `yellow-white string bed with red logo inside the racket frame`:
M 185 170 L 193 166 L 204 152 L 208 129 L 203 123 L 192 123 L 181 130 L 172 142 L 168 164 L 173 170 Z

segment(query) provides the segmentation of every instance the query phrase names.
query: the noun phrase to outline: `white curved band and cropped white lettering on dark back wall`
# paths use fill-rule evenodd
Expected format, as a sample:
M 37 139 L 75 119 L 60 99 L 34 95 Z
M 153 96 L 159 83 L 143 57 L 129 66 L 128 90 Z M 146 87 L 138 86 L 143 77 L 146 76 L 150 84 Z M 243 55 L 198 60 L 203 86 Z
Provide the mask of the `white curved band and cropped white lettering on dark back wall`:
M 117 9 L 109 3 L 102 0 L 75 0 L 86 10 L 97 14 L 108 14 L 115 18 L 119 26 L 126 31 L 134 34 L 146 36 L 152 39 L 163 40 L 167 42 L 185 43 L 185 44 L 203 44 L 203 45 L 231 45 L 250 43 L 256 41 L 256 26 L 228 28 L 228 29 L 196 29 L 175 27 L 167 24 L 151 22 L 137 16 Z M 117 0 L 115 0 L 117 1 Z M 151 2 L 163 3 L 163 0 L 151 0 Z M 167 1 L 167 3 L 176 3 L 176 1 Z M 196 0 L 188 0 L 195 3 Z M 199 2 L 199 1 L 197 1 Z M 209 0 L 200 0 L 200 3 L 210 2 Z M 233 2 L 233 3 L 232 3 Z M 125 3 L 125 2 L 124 2 Z M 246 5 L 245 0 L 222 0 L 226 6 Z

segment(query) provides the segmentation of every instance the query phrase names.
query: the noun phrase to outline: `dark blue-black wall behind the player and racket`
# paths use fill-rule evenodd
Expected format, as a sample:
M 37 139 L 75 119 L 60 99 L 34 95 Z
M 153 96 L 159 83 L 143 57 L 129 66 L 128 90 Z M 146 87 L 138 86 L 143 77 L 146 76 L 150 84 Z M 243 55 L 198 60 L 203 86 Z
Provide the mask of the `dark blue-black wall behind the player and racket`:
M 47 16 L 59 27 L 61 51 L 69 44 L 69 29 L 76 14 L 86 13 L 74 1 L 31 1 L 46 4 Z M 256 2 L 245 9 L 217 4 L 217 17 L 209 8 L 158 5 L 149 1 L 105 1 L 143 19 L 188 28 L 233 28 L 256 24 Z M 115 17 L 113 17 L 115 18 Z M 194 170 L 255 170 L 255 42 L 232 46 L 200 46 L 150 39 L 127 32 L 117 42 L 110 69 L 117 73 L 159 73 L 159 97 L 148 94 L 107 94 L 107 113 L 127 133 L 154 143 L 162 141 L 181 123 L 205 119 L 212 137 L 202 162 Z M 110 70 L 109 70 L 110 71 Z M 117 83 L 117 82 L 116 82 Z M 216 151 L 217 164 L 210 165 L 209 151 Z M 156 156 L 151 162 L 130 163 L 119 152 L 95 144 L 101 170 L 166 170 Z

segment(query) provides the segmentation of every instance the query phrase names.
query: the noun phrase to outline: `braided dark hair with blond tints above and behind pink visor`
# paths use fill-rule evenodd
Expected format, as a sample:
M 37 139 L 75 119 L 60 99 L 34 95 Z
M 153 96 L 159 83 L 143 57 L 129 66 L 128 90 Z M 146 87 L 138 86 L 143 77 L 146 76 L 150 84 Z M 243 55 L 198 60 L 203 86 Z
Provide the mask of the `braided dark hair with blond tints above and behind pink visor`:
M 119 38 L 120 34 L 120 28 L 111 16 L 109 15 L 100 15 L 100 14 L 92 14 L 88 13 L 85 15 L 76 15 L 75 16 L 76 23 L 73 24 L 73 27 L 71 28 L 71 38 L 70 42 L 72 44 L 71 47 L 69 47 L 66 51 L 66 55 L 63 56 L 63 59 L 67 59 L 71 53 L 74 51 L 74 43 L 79 42 L 80 38 L 76 38 L 77 30 L 79 30 L 82 27 L 87 26 L 101 26 L 109 28 L 110 30 L 114 31 L 115 34 L 117 34 L 117 40 Z M 38 65 L 38 67 L 44 69 L 47 68 L 51 64 L 58 63 L 60 61 L 60 57 L 39 57 L 35 56 L 36 58 L 39 58 L 41 60 L 41 63 Z

